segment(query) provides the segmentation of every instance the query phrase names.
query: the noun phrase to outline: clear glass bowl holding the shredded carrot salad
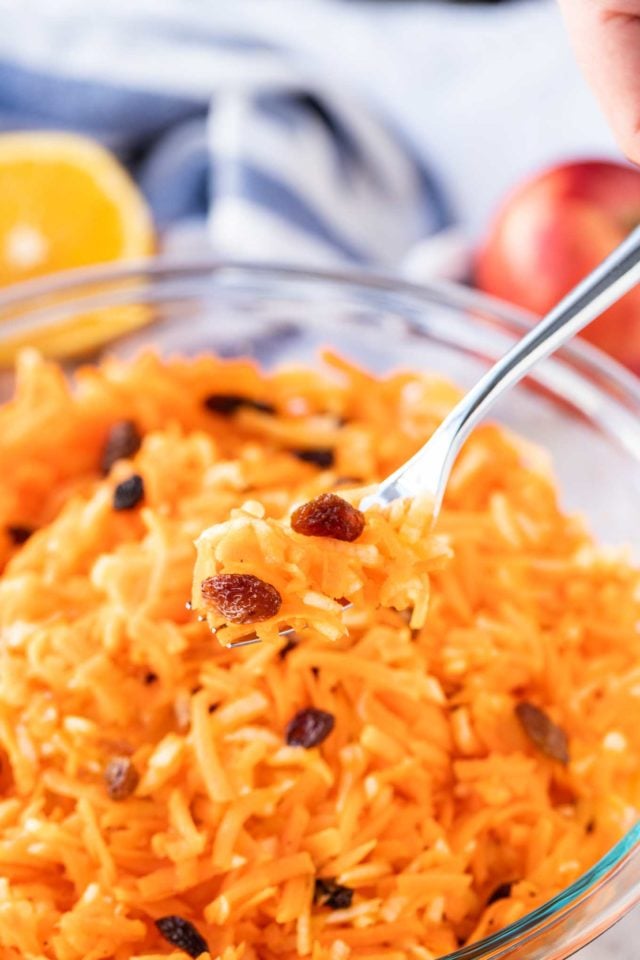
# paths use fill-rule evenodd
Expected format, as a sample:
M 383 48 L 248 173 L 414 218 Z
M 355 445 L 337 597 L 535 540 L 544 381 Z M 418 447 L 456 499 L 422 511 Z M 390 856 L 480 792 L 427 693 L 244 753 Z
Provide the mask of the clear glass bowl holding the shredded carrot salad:
M 0 294 L 0 344 L 104 308 L 136 307 L 145 326 L 101 353 L 203 350 L 266 368 L 312 364 L 331 345 L 369 369 L 435 370 L 470 386 L 531 317 L 452 284 L 419 287 L 369 274 L 278 266 L 149 261 L 74 271 Z M 102 322 L 108 324 L 108 314 Z M 85 358 L 86 359 L 86 358 Z M 10 389 L 5 372 L 0 390 Z M 596 536 L 640 556 L 640 382 L 576 342 L 512 390 L 492 416 L 551 452 L 566 509 Z M 526 917 L 447 960 L 562 960 L 640 900 L 640 824 L 587 873 Z

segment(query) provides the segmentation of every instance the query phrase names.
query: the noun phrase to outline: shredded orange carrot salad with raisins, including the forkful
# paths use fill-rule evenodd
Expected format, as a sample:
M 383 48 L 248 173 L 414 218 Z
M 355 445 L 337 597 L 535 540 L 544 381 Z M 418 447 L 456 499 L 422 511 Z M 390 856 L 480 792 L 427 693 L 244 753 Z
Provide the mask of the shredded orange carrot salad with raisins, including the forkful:
M 2 960 L 435 960 L 637 819 L 640 575 L 544 453 L 484 426 L 434 529 L 359 509 L 451 384 L 30 351 L 16 383 Z

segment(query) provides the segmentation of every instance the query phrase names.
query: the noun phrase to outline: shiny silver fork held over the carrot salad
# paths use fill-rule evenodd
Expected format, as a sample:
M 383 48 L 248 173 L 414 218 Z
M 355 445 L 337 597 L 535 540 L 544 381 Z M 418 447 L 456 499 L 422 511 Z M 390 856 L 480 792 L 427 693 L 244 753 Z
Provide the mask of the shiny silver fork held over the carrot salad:
M 365 497 L 360 509 L 385 506 L 393 500 L 417 494 L 431 494 L 435 520 L 460 447 L 489 407 L 536 363 L 570 340 L 639 282 L 640 227 L 636 227 L 613 253 L 478 380 L 425 445 L 383 480 L 375 493 Z M 291 628 L 280 631 L 281 636 L 291 633 Z M 252 643 L 259 643 L 259 637 L 243 637 L 230 646 Z

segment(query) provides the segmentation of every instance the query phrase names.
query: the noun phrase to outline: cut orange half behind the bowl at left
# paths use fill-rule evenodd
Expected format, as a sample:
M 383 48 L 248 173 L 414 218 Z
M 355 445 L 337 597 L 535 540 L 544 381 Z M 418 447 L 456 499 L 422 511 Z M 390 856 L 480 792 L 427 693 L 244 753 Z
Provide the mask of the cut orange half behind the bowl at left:
M 0 135 L 0 296 L 12 283 L 139 259 L 154 246 L 144 198 L 104 147 L 55 131 Z M 50 356 L 87 352 L 146 317 L 142 308 L 97 311 L 10 338 L 0 317 L 0 363 L 27 344 Z

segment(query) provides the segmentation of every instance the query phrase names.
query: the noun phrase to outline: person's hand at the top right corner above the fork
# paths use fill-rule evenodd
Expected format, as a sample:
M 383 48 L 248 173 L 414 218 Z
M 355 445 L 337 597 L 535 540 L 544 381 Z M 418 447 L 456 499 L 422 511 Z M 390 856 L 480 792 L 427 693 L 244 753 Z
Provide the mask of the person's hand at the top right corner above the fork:
M 640 0 L 559 2 L 618 144 L 640 164 Z

